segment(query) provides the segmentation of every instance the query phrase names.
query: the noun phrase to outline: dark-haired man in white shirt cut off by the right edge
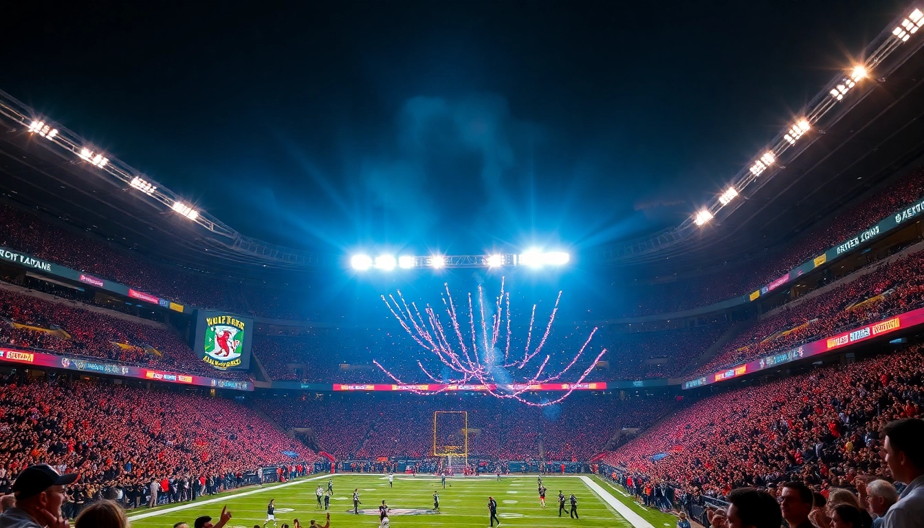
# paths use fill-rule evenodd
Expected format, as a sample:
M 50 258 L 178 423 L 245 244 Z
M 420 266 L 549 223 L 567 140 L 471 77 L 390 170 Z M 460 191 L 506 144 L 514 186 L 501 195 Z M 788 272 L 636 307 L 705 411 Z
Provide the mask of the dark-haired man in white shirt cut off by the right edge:
M 924 420 L 906 418 L 886 424 L 882 458 L 893 478 L 907 487 L 883 517 L 883 528 L 924 527 Z

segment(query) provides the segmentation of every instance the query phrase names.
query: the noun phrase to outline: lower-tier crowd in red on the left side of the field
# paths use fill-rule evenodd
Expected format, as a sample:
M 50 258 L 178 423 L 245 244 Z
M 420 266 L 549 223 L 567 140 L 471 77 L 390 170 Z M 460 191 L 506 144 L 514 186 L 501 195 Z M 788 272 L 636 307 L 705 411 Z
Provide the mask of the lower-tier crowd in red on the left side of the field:
M 174 477 L 252 471 L 318 456 L 230 399 L 91 381 L 0 383 L 0 468 L 80 473 L 75 494 Z

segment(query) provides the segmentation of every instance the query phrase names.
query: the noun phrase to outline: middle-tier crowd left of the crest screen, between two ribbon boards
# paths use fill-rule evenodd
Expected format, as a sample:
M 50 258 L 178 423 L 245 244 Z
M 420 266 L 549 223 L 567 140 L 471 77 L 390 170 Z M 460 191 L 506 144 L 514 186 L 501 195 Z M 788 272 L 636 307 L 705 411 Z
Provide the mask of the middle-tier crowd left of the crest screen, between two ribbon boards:
M 185 374 L 215 375 L 168 326 L 102 312 L 0 288 L 0 343 Z M 222 373 L 228 378 L 244 375 Z

